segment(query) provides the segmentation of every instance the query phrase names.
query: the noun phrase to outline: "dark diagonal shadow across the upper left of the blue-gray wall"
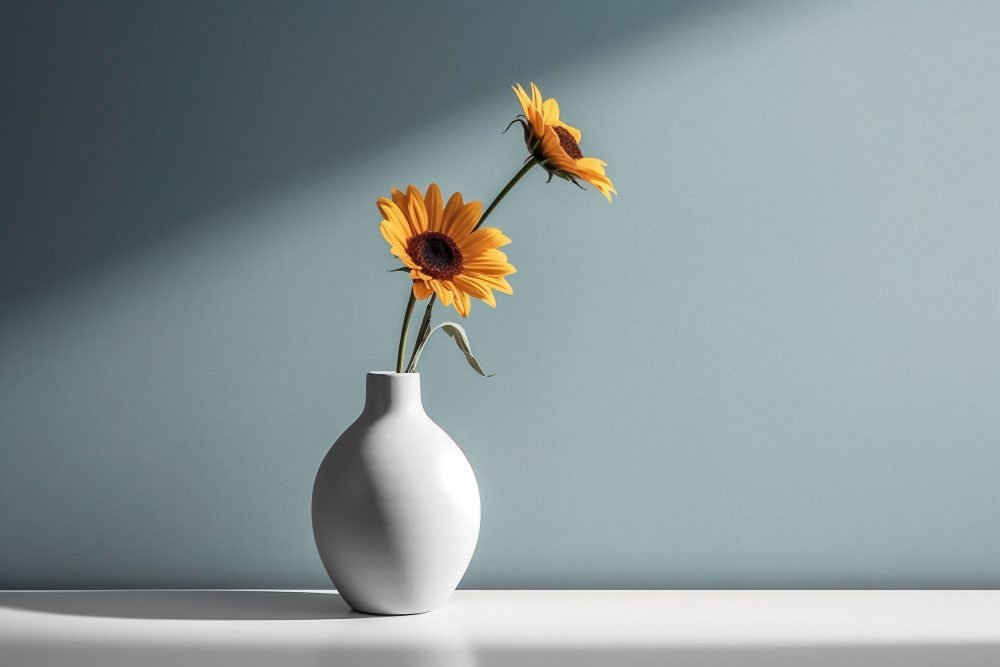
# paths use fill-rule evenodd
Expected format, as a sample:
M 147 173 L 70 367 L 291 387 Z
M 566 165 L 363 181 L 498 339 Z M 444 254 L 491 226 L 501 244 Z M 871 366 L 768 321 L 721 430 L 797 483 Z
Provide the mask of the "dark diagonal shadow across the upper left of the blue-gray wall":
M 0 318 L 513 73 L 714 4 L 8 3 Z

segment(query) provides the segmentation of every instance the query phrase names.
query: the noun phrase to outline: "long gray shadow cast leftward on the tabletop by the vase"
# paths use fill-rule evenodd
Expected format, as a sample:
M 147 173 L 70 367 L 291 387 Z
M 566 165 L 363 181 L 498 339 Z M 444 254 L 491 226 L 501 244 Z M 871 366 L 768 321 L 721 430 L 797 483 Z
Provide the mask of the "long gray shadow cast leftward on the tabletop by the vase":
M 372 618 L 335 592 L 231 590 L 3 591 L 0 607 L 108 618 L 291 621 Z

